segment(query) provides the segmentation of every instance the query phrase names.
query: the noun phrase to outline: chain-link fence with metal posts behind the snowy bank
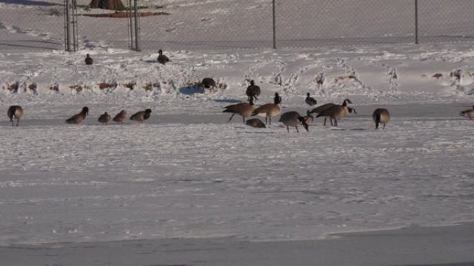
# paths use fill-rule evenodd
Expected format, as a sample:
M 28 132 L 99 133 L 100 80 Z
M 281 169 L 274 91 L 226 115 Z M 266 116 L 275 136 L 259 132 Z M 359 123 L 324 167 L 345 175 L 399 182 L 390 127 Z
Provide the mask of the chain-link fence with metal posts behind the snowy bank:
M 77 8 L 68 23 L 66 1 Z M 224 50 L 474 38 L 472 0 L 121 1 L 128 10 L 89 8 L 91 0 L 0 0 L 0 51 L 62 50 L 66 26 L 74 22 L 78 49 Z M 137 19 L 128 12 L 134 3 Z

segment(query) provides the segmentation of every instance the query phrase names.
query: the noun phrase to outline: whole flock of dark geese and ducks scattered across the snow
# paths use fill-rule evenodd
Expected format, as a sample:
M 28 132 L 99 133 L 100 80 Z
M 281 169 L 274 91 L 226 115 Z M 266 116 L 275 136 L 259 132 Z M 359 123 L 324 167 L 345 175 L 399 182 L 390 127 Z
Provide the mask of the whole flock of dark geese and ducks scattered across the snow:
M 170 61 L 166 55 L 163 55 L 163 51 L 158 51 L 157 61 L 160 64 L 166 64 Z M 91 65 L 94 64 L 94 59 L 90 57 L 89 54 L 86 55 L 85 64 Z M 207 80 L 209 79 L 209 80 Z M 211 78 L 204 78 L 202 84 L 207 86 L 216 86 L 215 82 Z M 231 104 L 229 106 L 224 107 L 224 113 L 231 113 L 231 117 L 227 122 L 231 122 L 234 115 L 240 115 L 243 119 L 243 123 L 247 124 L 248 126 L 253 126 L 256 128 L 265 128 L 265 124 L 272 124 L 272 117 L 275 117 L 281 113 L 281 97 L 278 93 L 275 93 L 273 103 L 263 104 L 257 108 L 254 107 L 254 101 L 258 100 L 258 96 L 261 94 L 261 89 L 259 86 L 255 85 L 254 80 L 250 81 L 250 85 L 247 87 L 245 91 L 247 95 L 247 102 L 242 102 L 239 104 Z M 306 94 L 305 98 L 306 104 L 308 106 L 315 106 L 317 104 L 317 100 L 310 96 L 310 93 Z M 326 120 L 329 117 L 331 122 L 331 126 L 337 126 L 337 120 L 341 120 L 342 118 L 349 115 L 349 113 L 356 113 L 356 109 L 347 106 L 347 104 L 352 104 L 350 99 L 344 99 L 342 104 L 322 104 L 321 106 L 317 106 L 312 110 L 308 110 L 306 115 L 300 115 L 296 111 L 288 111 L 286 113 L 281 114 L 279 122 L 283 123 L 286 126 L 288 132 L 290 132 L 290 127 L 295 127 L 297 132 L 299 132 L 298 126 L 303 126 L 306 131 L 309 131 L 310 124 L 313 123 L 315 117 L 313 114 L 317 114 L 316 117 L 324 117 L 324 126 L 326 126 Z M 130 120 L 137 121 L 139 124 L 143 123 L 144 120 L 148 120 L 151 115 L 151 109 L 148 108 L 144 111 L 139 111 L 134 113 L 134 115 L 130 116 Z M 12 126 L 14 126 L 13 120 L 17 120 L 17 126 L 19 124 L 19 120 L 24 115 L 23 108 L 18 105 L 13 105 L 8 108 L 8 118 L 10 122 L 12 122 Z M 66 120 L 67 124 L 80 124 L 82 121 L 85 120 L 86 116 L 89 114 L 89 108 L 87 106 L 82 108 L 80 113 L 69 117 Z M 357 114 L 357 113 L 356 113 Z M 107 112 L 103 113 L 98 117 L 98 122 L 102 124 L 108 124 L 110 120 L 122 124 L 123 120 L 127 117 L 127 112 L 125 110 L 120 111 L 120 113 L 114 116 L 109 115 Z M 265 124 L 258 118 L 253 118 L 245 121 L 246 117 L 251 116 L 261 116 L 265 117 Z M 470 120 L 474 119 L 474 106 L 472 109 L 468 109 L 459 113 L 459 115 L 468 117 Z M 376 124 L 376 129 L 380 124 L 383 125 L 383 129 L 385 129 L 385 125 L 390 120 L 390 113 L 386 108 L 377 108 L 374 113 L 372 113 L 372 119 Z M 333 122 L 334 120 L 334 122 Z

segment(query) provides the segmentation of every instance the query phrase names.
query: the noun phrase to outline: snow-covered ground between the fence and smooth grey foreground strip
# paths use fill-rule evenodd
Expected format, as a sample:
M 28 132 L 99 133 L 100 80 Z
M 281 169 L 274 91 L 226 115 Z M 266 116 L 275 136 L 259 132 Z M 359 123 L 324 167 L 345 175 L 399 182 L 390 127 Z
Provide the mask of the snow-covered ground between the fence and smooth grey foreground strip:
M 166 66 L 105 42 L 83 48 L 0 51 L 0 245 L 317 239 L 474 220 L 474 122 L 459 116 L 474 104 L 472 44 L 166 50 Z M 203 77 L 221 88 L 186 88 Z M 227 124 L 222 107 L 245 101 L 249 79 L 257 104 L 278 92 L 283 112 L 303 114 L 309 92 L 320 104 L 349 98 L 358 115 L 301 133 L 278 117 L 267 129 Z M 82 106 L 87 120 L 65 124 Z M 371 121 L 378 107 L 392 113 L 385 131 Z M 97 122 L 144 108 L 142 125 Z

